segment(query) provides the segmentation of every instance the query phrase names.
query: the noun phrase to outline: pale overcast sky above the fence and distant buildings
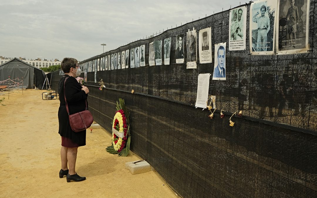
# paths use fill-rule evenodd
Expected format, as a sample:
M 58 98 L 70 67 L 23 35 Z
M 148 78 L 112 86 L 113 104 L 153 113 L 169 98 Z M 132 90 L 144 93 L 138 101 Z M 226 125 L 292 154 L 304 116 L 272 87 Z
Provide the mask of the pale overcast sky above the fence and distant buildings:
M 101 43 L 106 52 L 230 5 L 239 1 L 0 0 L 0 55 L 82 61 L 103 53 Z

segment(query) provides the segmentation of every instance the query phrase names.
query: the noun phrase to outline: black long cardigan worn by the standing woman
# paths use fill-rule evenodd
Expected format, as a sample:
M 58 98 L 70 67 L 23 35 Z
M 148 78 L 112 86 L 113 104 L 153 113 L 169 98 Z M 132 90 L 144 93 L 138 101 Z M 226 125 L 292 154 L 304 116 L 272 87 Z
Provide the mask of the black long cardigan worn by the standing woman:
M 60 106 L 58 108 L 58 133 L 63 137 L 71 139 L 74 143 L 84 146 L 86 145 L 86 130 L 74 132 L 69 124 L 69 118 L 64 99 L 64 81 L 66 77 L 68 77 L 68 79 L 65 82 L 65 97 L 67 100 L 69 114 L 84 111 L 86 108 L 85 101 L 87 99 L 87 94 L 85 91 L 81 90 L 81 85 L 74 77 L 65 74 L 65 76 L 60 79 L 57 90 L 60 100 Z

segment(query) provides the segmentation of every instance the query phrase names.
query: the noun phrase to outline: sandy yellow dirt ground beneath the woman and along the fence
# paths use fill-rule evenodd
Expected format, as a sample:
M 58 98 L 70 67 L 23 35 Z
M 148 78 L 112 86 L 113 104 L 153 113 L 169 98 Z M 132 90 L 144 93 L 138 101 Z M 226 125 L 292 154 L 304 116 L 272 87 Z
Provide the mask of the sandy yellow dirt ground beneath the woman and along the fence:
M 42 92 L 0 95 L 5 98 L 0 103 L 0 197 L 178 197 L 156 171 L 132 175 L 125 169 L 126 162 L 140 157 L 107 153 L 111 135 L 97 127 L 87 130 L 87 145 L 78 149 L 76 172 L 87 179 L 59 178 L 59 100 L 42 100 Z

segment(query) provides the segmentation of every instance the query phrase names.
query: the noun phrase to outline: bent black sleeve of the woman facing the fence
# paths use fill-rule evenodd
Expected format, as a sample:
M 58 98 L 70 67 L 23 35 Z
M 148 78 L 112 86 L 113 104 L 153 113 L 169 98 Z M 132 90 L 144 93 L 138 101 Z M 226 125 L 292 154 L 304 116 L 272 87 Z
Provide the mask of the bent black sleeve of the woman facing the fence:
M 69 78 L 65 83 L 65 97 L 69 102 L 76 102 L 87 99 L 87 94 L 79 88 L 75 79 Z

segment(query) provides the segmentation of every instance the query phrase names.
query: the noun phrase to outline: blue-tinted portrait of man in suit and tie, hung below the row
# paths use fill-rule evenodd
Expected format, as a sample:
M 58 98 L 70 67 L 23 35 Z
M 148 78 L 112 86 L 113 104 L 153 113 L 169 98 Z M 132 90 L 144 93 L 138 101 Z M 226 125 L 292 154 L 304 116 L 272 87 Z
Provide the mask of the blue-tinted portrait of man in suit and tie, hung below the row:
M 212 80 L 226 80 L 226 44 L 215 44 L 215 66 Z

